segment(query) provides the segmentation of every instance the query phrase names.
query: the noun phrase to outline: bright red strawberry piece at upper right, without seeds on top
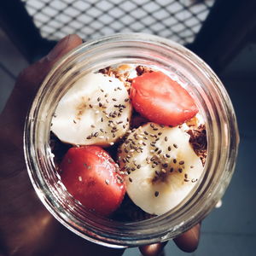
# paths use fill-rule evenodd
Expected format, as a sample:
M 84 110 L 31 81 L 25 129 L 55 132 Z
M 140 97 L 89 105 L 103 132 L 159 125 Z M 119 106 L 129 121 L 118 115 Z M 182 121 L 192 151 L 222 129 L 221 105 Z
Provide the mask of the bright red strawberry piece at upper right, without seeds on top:
M 189 92 L 160 71 L 132 79 L 130 96 L 137 112 L 157 124 L 180 125 L 198 113 Z

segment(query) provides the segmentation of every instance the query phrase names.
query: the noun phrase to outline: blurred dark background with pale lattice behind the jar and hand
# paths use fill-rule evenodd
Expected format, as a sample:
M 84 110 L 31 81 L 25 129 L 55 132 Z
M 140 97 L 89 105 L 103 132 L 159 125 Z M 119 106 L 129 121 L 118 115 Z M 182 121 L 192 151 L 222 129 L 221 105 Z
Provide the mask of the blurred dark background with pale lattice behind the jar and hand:
M 0 111 L 20 71 L 69 33 L 84 40 L 116 32 L 170 38 L 200 55 L 224 82 L 240 129 L 236 172 L 221 207 L 203 222 L 195 253 L 170 241 L 162 255 L 255 255 L 256 1 L 0 1 Z M 137 248 L 125 256 L 140 255 Z

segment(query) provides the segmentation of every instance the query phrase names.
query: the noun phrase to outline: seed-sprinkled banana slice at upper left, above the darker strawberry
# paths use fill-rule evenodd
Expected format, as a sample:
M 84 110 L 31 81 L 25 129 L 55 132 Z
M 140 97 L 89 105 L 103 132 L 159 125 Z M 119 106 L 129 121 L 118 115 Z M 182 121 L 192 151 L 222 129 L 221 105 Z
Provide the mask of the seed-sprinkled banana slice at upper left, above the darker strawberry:
M 52 119 L 63 143 L 112 145 L 129 129 L 131 102 L 119 79 L 89 73 L 61 98 Z

